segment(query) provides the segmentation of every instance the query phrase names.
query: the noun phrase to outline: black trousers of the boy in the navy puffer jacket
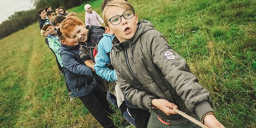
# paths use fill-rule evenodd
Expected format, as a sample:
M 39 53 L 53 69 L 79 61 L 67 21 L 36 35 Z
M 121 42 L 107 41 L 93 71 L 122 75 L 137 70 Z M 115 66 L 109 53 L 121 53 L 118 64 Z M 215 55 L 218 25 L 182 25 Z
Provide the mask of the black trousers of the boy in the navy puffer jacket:
M 113 120 L 108 117 L 109 114 L 113 113 L 113 110 L 109 108 L 106 92 L 98 84 L 92 92 L 79 97 L 79 99 L 104 128 L 115 128 Z

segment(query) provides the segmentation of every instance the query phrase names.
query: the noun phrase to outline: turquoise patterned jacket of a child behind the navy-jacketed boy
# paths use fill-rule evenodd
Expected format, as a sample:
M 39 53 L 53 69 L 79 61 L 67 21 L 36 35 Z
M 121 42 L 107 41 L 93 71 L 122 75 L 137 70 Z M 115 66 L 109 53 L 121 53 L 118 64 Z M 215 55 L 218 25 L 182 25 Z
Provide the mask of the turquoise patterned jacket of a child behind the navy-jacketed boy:
M 63 67 L 63 64 L 62 64 L 62 61 L 61 61 L 61 54 L 60 54 L 61 42 L 59 41 L 58 36 L 55 37 L 55 36 L 52 36 L 52 35 L 48 35 L 48 37 L 46 37 L 46 38 L 48 40 L 49 48 L 52 49 L 56 58 L 58 59 L 58 62 L 61 65 L 61 67 Z

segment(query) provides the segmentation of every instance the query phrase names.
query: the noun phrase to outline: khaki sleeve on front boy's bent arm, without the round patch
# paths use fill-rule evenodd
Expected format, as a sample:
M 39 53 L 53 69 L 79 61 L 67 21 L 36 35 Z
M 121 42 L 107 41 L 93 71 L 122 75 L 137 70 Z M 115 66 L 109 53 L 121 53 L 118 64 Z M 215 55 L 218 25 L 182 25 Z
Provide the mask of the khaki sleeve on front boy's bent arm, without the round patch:
M 122 78 L 122 76 L 116 71 L 116 74 L 118 76 L 117 82 L 120 89 L 122 90 L 125 99 L 127 99 L 129 102 L 131 102 L 133 105 L 136 105 L 142 109 L 149 109 L 151 106 L 151 97 L 154 97 L 145 91 L 139 90 L 135 87 L 133 87 L 131 84 L 129 84 L 125 79 Z

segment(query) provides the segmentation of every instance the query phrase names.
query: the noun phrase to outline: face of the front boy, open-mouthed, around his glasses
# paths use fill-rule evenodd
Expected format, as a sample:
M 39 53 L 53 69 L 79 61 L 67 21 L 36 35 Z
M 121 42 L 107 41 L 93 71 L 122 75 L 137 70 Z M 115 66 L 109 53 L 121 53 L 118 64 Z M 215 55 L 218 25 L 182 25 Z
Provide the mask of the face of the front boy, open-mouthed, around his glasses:
M 109 20 L 111 17 L 116 15 L 123 15 L 126 9 L 122 9 L 117 6 L 110 6 L 106 10 L 106 18 Z M 115 19 L 114 19 L 115 20 Z M 108 21 L 108 26 L 106 30 L 108 33 L 112 33 L 116 35 L 116 38 L 120 41 L 127 41 L 131 39 L 137 30 L 138 17 L 135 14 L 131 19 L 125 19 L 121 16 L 121 22 L 117 25 L 113 25 L 110 21 Z

